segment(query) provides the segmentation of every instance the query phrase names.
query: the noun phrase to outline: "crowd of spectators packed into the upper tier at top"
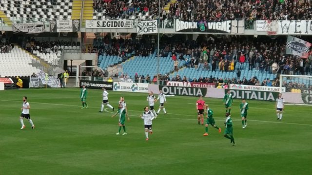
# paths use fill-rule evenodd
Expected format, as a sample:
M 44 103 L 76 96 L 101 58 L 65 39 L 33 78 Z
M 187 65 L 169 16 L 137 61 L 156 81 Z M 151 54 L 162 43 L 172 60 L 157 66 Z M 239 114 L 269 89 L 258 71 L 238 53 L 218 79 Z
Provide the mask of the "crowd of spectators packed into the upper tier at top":
M 166 4 L 168 11 L 164 10 Z M 222 21 L 242 18 L 247 26 L 254 20 L 312 19 L 310 0 L 161 0 L 161 20 Z M 149 13 L 157 18 L 158 1 L 152 0 L 94 0 L 95 12 L 109 18 L 128 18 Z

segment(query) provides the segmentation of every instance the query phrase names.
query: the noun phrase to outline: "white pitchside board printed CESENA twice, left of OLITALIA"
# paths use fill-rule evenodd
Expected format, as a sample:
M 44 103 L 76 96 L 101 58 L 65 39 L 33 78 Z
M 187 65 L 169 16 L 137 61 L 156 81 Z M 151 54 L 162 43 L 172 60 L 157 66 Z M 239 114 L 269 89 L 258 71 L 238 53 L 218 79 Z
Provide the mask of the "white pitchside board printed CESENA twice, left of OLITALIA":
M 148 92 L 147 83 L 123 83 L 123 82 L 114 82 L 113 90 L 114 91 L 126 91 L 126 92 Z

